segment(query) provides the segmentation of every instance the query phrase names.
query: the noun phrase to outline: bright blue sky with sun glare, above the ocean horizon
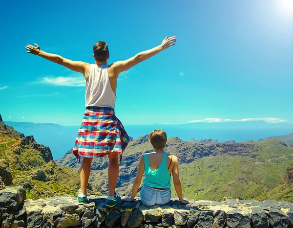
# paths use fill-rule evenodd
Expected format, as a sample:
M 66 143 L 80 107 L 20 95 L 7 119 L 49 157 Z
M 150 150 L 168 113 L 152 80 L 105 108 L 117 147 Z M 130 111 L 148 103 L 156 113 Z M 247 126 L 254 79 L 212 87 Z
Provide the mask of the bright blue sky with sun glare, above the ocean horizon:
M 78 125 L 84 77 L 24 47 L 109 63 L 175 46 L 119 76 L 116 114 L 124 124 L 293 122 L 291 0 L 5 1 L 0 9 L 0 114 L 4 120 Z M 291 7 L 291 8 L 290 8 Z

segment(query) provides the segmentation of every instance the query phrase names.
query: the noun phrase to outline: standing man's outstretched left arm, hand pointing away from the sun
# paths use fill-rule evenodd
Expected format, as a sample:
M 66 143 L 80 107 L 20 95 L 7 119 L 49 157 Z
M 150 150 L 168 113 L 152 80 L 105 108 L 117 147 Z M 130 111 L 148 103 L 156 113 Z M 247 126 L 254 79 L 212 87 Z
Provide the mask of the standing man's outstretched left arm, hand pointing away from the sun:
M 90 64 L 88 64 L 88 63 L 84 63 L 81 61 L 72 61 L 70 59 L 63 58 L 60 55 L 47 53 L 45 51 L 42 51 L 40 49 L 40 46 L 38 46 L 37 44 L 35 44 L 35 46 L 27 45 L 27 46 L 25 46 L 25 49 L 28 50 L 28 51 L 26 51 L 28 53 L 31 53 L 33 55 L 39 55 L 46 60 L 49 60 L 54 63 L 58 63 L 60 65 L 63 65 L 64 67 L 72 69 L 74 71 L 81 72 L 84 74 L 84 77 L 87 77 L 87 75 L 85 75 L 85 71 L 90 66 Z

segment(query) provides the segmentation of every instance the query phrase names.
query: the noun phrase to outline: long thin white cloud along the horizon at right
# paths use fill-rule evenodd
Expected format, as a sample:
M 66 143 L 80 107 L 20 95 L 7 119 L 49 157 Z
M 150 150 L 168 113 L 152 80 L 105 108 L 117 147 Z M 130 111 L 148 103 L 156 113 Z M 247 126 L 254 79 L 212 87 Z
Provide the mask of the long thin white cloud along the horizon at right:
M 243 118 L 243 119 L 221 119 L 221 118 L 205 118 L 195 119 L 181 123 L 162 123 L 162 124 L 188 124 L 188 123 L 227 123 L 227 122 L 248 122 L 248 121 L 263 121 L 266 123 L 290 123 L 285 119 L 276 117 L 263 117 L 263 118 Z

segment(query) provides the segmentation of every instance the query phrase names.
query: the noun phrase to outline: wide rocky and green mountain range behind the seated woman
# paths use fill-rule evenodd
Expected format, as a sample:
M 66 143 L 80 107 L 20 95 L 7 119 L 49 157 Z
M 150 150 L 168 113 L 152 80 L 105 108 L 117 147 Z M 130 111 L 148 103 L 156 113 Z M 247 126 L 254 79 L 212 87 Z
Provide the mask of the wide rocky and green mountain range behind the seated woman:
M 269 191 L 281 184 L 288 164 L 293 164 L 293 147 L 280 140 L 198 144 L 170 137 L 165 150 L 178 157 L 183 194 L 194 200 L 221 200 L 226 196 L 276 198 Z M 128 144 L 117 182 L 120 193 L 130 193 L 139 158 L 149 151 L 152 151 L 152 146 L 148 135 Z M 80 167 L 71 151 L 56 162 L 76 169 Z M 101 186 L 102 192 L 107 191 L 107 167 L 106 158 L 93 160 L 90 182 L 93 186 Z M 173 187 L 172 192 L 175 196 Z M 285 198 L 293 200 L 293 194 L 287 192 Z

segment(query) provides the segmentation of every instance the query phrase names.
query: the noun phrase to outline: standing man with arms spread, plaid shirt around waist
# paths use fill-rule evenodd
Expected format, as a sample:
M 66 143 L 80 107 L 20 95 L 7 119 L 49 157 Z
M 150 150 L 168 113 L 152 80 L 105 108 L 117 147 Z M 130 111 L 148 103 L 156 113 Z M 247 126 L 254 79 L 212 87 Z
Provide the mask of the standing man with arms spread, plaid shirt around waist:
M 118 75 L 162 50 L 174 46 L 176 40 L 177 38 L 174 36 L 166 37 L 161 45 L 111 65 L 108 65 L 108 46 L 103 41 L 99 41 L 93 46 L 95 64 L 72 61 L 60 55 L 44 52 L 37 44 L 25 46 L 28 53 L 39 55 L 51 62 L 84 74 L 86 111 L 73 148 L 73 153 L 79 161 L 81 156 L 83 157 L 80 169 L 79 204 L 84 204 L 87 198 L 86 186 L 93 158 L 106 155 L 109 159 L 109 192 L 106 205 L 112 207 L 121 202 L 121 197 L 115 192 L 119 175 L 119 155 L 121 159 L 129 138 L 114 112 Z

